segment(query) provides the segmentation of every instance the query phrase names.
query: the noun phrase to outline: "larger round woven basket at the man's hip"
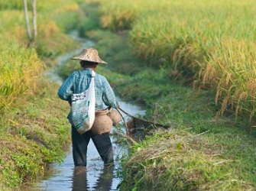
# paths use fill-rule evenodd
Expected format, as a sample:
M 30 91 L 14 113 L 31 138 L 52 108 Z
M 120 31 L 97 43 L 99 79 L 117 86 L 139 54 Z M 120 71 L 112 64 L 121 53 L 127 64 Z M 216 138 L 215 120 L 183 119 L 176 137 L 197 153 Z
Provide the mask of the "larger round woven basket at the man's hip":
M 91 128 L 93 134 L 109 133 L 112 130 L 113 121 L 107 115 L 108 112 L 108 109 L 95 112 L 95 120 Z

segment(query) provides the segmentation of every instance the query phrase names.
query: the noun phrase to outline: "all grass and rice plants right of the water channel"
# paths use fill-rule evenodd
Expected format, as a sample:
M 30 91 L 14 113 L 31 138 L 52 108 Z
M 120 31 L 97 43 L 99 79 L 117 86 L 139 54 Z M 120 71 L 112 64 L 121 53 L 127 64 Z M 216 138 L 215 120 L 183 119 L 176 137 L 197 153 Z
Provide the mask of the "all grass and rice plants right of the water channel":
M 98 73 L 144 105 L 144 118 L 172 127 L 131 145 L 119 189 L 254 190 L 254 100 L 245 91 L 236 97 L 253 90 L 254 35 L 245 34 L 255 27 L 252 1 L 86 2 L 99 5 L 102 28 L 115 32 L 84 34 L 109 62 Z

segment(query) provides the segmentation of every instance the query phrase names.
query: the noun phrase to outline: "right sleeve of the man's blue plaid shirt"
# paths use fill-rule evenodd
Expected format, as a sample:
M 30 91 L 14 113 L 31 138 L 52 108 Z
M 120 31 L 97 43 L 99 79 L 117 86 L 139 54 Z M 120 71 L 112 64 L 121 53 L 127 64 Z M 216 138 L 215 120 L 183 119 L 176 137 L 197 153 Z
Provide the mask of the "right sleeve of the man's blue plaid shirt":
M 111 106 L 112 108 L 117 108 L 117 102 L 115 99 L 115 93 L 112 87 L 109 85 L 109 82 L 105 79 L 103 83 L 104 89 L 102 94 L 102 100 L 107 106 Z

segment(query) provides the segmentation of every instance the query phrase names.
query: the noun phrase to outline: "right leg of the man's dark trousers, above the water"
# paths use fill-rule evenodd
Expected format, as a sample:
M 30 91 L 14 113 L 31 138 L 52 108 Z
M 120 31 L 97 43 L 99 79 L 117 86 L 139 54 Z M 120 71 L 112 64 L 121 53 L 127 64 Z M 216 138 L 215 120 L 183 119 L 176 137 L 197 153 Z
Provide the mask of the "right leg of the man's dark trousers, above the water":
M 91 138 L 104 163 L 113 163 L 113 147 L 109 133 L 104 133 L 101 135 L 92 134 Z

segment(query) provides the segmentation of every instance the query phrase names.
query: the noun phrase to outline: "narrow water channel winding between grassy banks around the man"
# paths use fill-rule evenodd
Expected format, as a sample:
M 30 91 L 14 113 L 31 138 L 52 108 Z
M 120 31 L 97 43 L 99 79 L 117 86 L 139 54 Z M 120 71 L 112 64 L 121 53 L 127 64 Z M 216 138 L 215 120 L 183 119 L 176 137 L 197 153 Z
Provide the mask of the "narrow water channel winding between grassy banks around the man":
M 73 35 L 75 37 L 75 35 Z M 92 47 L 92 42 L 86 40 L 83 47 L 74 50 L 73 52 L 63 54 L 59 57 L 59 65 L 62 65 L 66 60 L 70 60 L 71 57 L 81 53 L 85 47 Z M 47 76 L 50 80 L 56 83 L 62 83 L 60 76 L 57 76 L 56 71 L 49 71 Z M 118 99 L 118 104 L 125 112 L 131 115 L 144 115 L 144 110 L 137 105 L 132 105 L 128 102 L 123 102 Z M 122 113 L 125 117 L 125 114 Z M 123 121 L 122 121 L 123 122 Z M 122 123 L 121 122 L 121 123 Z M 121 125 L 122 133 L 125 134 L 125 125 Z M 119 130 L 120 131 L 120 130 Z M 50 191 L 82 191 L 82 190 L 118 190 L 118 183 L 121 180 L 118 179 L 117 173 L 120 172 L 121 166 L 119 164 L 122 157 L 128 154 L 128 144 L 123 141 L 118 141 L 115 133 L 115 127 L 112 128 L 111 139 L 114 149 L 115 165 L 113 167 L 104 167 L 104 164 L 99 157 L 96 147 L 89 142 L 87 153 L 87 167 L 74 167 L 72 157 L 72 145 L 66 152 L 66 157 L 62 163 L 53 163 L 50 165 L 50 169 L 47 170 L 43 179 L 31 187 L 31 190 L 50 190 Z

